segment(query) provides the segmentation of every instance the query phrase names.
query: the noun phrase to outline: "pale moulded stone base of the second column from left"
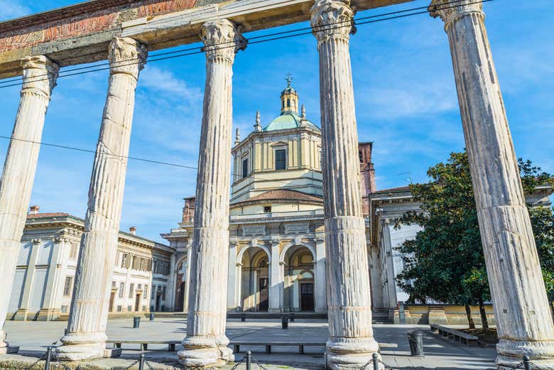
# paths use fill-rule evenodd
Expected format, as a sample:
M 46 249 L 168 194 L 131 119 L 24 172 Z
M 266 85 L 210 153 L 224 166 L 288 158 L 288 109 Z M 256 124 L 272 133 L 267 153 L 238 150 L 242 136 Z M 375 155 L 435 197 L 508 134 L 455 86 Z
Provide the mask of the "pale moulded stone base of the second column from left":
M 69 333 L 62 337 L 63 343 L 56 348 L 56 358 L 60 361 L 82 361 L 102 359 L 106 349 L 106 334 Z

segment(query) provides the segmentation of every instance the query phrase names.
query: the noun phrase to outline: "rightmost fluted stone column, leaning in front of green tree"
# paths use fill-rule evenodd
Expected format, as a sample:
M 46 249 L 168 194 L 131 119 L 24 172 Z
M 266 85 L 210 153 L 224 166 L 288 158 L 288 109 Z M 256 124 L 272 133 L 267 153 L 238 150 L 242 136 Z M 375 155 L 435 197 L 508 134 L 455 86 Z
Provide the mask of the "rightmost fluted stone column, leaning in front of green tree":
M 473 3 L 473 4 L 472 4 Z M 445 21 L 498 329 L 496 364 L 554 369 L 554 327 L 482 4 L 431 3 Z

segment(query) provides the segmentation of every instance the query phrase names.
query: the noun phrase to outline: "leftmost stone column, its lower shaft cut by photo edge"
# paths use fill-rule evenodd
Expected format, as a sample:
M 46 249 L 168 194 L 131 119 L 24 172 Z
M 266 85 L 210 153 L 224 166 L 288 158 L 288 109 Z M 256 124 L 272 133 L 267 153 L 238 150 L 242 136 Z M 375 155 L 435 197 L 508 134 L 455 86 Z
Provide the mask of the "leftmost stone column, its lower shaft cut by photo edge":
M 0 354 L 9 352 L 4 321 L 16 273 L 17 258 L 31 201 L 40 140 L 58 65 L 45 56 L 21 60 L 23 86 L 12 140 L 0 179 Z

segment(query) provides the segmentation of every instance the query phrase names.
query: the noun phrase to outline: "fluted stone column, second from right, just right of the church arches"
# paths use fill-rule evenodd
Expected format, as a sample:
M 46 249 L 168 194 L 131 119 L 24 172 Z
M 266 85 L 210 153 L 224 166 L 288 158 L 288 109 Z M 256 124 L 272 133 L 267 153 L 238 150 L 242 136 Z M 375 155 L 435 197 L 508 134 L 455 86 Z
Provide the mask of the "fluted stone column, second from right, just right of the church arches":
M 358 369 L 379 350 L 371 294 L 358 136 L 349 55 L 353 12 L 346 1 L 317 0 L 311 24 L 320 55 L 320 109 L 327 256 L 330 369 Z M 343 27 L 337 28 L 336 23 Z

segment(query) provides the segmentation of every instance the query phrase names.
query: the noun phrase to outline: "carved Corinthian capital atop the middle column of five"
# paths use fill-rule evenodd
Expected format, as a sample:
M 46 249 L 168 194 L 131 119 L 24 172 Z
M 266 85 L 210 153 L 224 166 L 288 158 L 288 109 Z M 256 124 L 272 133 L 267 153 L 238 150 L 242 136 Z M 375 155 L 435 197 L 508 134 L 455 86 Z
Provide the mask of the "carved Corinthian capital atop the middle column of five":
M 242 36 L 241 28 L 227 19 L 207 21 L 200 28 L 200 38 L 205 47 L 206 59 L 234 61 L 234 55 L 246 48 L 248 41 Z

